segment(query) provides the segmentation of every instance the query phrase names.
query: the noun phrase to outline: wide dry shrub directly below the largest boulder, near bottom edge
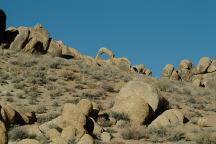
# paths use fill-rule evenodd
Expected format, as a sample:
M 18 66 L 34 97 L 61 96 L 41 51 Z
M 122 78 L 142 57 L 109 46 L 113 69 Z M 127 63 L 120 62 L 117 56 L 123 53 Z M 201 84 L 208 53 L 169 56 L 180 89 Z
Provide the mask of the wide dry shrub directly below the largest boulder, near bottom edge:
M 125 140 L 129 140 L 129 139 L 139 140 L 147 137 L 145 128 L 141 128 L 141 129 L 132 128 L 132 127 L 124 128 L 120 134 L 122 138 Z

